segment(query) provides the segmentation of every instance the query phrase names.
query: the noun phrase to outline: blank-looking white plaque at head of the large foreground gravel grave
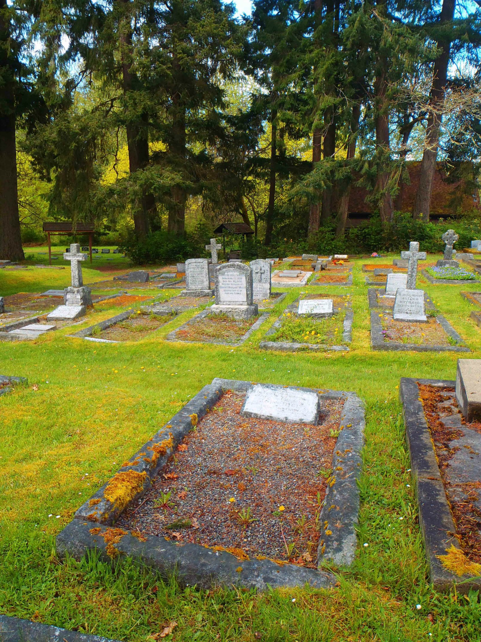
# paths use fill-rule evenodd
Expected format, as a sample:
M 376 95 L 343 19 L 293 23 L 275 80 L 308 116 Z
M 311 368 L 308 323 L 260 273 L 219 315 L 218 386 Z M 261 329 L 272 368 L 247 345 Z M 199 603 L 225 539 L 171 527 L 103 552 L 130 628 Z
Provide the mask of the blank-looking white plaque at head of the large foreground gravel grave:
M 248 390 L 241 415 L 274 421 L 317 424 L 319 397 L 317 392 L 311 390 L 258 384 Z

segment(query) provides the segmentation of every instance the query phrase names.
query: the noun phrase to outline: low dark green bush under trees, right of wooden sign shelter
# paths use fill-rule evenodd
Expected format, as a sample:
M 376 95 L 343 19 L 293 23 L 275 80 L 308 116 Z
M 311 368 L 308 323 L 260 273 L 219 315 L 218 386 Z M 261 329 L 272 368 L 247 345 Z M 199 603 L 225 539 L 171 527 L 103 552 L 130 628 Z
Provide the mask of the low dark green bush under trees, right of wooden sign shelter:
M 119 247 L 134 265 L 183 261 L 201 251 L 194 241 L 162 230 L 149 234 L 146 239 L 137 239 L 135 234 L 130 234 Z

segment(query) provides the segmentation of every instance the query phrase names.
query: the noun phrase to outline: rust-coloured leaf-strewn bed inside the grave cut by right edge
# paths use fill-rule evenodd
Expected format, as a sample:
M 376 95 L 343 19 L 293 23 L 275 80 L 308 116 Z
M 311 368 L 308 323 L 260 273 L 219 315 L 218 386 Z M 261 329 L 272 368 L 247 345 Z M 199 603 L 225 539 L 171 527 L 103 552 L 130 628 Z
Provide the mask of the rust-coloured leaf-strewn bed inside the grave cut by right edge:
M 473 453 L 473 437 L 480 441 L 481 422 L 466 424 L 454 388 L 421 383 L 418 388 L 461 548 L 471 562 L 480 564 L 481 470 L 473 479 L 466 458 Z

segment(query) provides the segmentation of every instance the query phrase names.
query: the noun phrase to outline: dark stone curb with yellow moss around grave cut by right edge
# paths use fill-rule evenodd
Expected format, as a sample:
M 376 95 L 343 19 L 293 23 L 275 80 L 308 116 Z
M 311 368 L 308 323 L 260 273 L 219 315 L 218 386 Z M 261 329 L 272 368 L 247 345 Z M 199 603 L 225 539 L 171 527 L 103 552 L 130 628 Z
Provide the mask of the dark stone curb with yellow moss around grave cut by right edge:
M 446 498 L 437 464 L 434 445 L 419 398 L 418 382 L 434 386 L 455 387 L 455 381 L 401 377 L 399 396 L 403 408 L 406 439 L 419 506 L 419 525 L 425 542 L 430 580 L 435 589 L 445 591 L 456 587 L 458 593 L 481 589 L 481 578 L 457 575 L 443 567 L 437 555 L 444 555 L 450 546 L 460 548 L 454 536 L 456 527 Z

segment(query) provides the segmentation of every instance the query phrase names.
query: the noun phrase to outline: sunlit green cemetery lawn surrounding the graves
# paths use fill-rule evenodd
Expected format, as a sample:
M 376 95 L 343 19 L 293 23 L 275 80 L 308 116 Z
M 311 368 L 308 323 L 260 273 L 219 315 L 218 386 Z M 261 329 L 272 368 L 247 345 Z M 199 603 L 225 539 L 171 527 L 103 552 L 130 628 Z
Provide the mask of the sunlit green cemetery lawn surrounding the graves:
M 257 349 L 298 297 L 297 288 L 286 288 L 287 297 L 238 348 L 159 340 L 196 310 L 140 342 L 76 340 L 65 328 L 33 342 L 0 343 L 0 374 L 28 377 L 28 385 L 0 396 L 0 612 L 129 642 L 156 639 L 173 622 L 165 639 L 176 642 L 481 640 L 477 594 L 441 594 L 428 583 L 398 402 L 401 376 L 454 379 L 457 354 L 371 351 L 363 260 L 352 263 L 350 352 Z M 85 282 L 99 280 L 94 272 L 84 270 Z M 69 280 L 69 270 L 33 274 L 0 270 L 0 292 L 44 291 Z M 478 308 L 460 296 L 463 286 L 429 284 L 419 275 L 418 287 L 459 331 L 473 351 L 469 357 L 481 358 L 481 331 L 469 318 Z M 346 293 L 308 288 L 316 291 Z M 139 288 L 135 294 L 152 292 Z M 76 327 L 122 309 L 99 306 Z M 353 390 L 364 400 L 359 545 L 353 566 L 338 569 L 339 587 L 264 594 L 180 589 L 128 561 L 112 566 L 94 554 L 81 562 L 56 557 L 55 536 L 76 508 L 214 377 Z

